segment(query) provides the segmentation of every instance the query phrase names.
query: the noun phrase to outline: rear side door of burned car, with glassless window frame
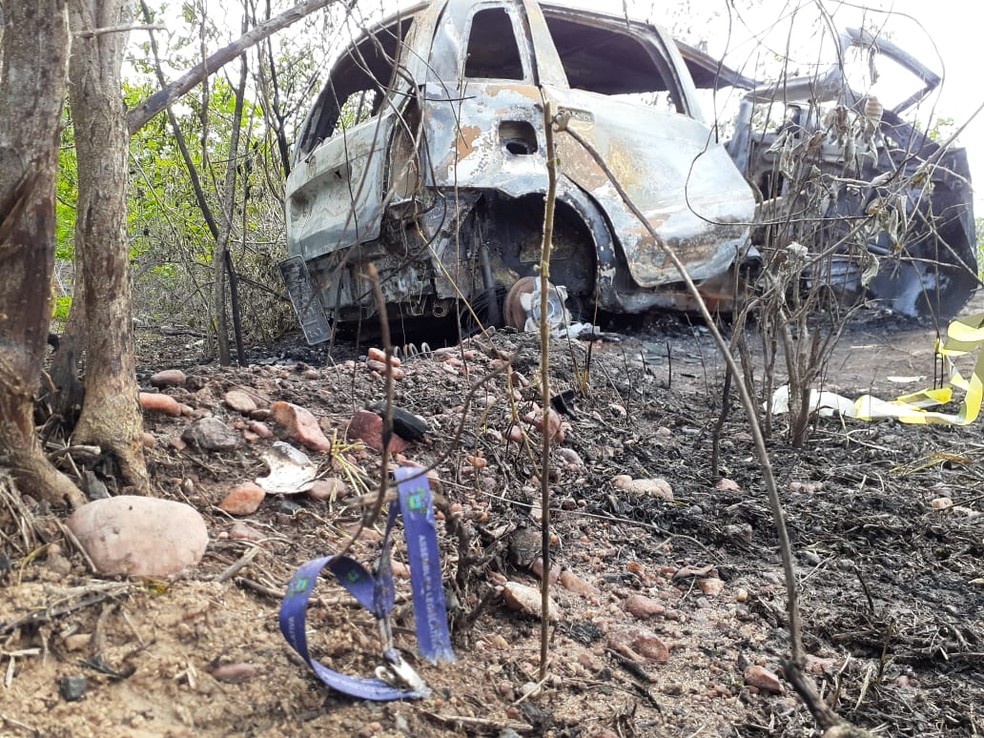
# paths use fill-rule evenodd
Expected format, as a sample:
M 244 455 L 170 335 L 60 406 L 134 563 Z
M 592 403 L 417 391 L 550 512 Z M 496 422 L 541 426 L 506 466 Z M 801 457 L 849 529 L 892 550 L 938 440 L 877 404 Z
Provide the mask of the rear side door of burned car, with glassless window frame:
M 528 3 L 542 71 L 559 65 L 563 84 L 544 81 L 546 100 L 600 155 L 660 239 L 695 280 L 724 272 L 747 243 L 751 189 L 714 141 L 693 81 L 672 41 L 656 29 L 566 8 Z M 608 174 L 571 135 L 556 137 L 563 175 L 606 213 L 633 280 L 642 287 L 680 274 L 616 192 Z

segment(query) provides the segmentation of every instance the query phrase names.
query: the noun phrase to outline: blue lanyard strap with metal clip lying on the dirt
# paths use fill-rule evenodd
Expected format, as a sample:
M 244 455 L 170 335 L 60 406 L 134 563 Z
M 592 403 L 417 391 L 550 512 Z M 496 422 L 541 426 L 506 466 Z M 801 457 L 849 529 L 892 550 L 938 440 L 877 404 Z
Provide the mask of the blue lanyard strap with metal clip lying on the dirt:
M 314 559 L 300 566 L 294 573 L 280 605 L 280 632 L 318 678 L 339 692 L 375 701 L 423 698 L 430 695 L 430 689 L 424 681 L 393 646 L 390 616 L 396 595 L 390 549 L 392 529 L 397 514 L 401 512 L 410 560 L 418 650 L 424 659 L 434 664 L 454 661 L 430 484 L 426 474 L 416 468 L 400 467 L 395 476 L 399 503 L 390 505 L 375 574 L 348 556 Z M 312 658 L 308 651 L 305 624 L 307 605 L 318 576 L 326 567 L 356 601 L 373 614 L 379 624 L 384 663 L 376 669 L 375 679 L 340 674 Z

